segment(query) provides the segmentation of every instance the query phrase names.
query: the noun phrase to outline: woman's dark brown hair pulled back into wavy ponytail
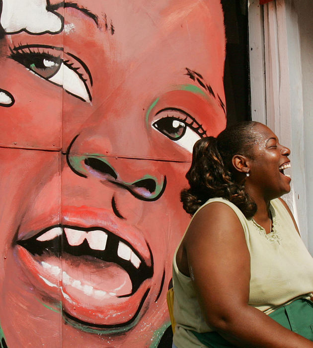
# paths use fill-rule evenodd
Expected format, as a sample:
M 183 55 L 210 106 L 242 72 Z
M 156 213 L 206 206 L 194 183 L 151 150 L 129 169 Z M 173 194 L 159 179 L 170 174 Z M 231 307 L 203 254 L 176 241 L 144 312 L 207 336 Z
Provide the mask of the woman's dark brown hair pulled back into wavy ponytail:
M 257 122 L 240 122 L 226 128 L 217 138 L 198 140 L 192 153 L 190 170 L 186 174 L 190 188 L 181 191 L 181 201 L 187 213 L 193 215 L 209 198 L 223 197 L 234 203 L 246 218 L 256 212 L 256 204 L 244 188 L 244 180 L 235 182 L 234 155 L 253 157 Z

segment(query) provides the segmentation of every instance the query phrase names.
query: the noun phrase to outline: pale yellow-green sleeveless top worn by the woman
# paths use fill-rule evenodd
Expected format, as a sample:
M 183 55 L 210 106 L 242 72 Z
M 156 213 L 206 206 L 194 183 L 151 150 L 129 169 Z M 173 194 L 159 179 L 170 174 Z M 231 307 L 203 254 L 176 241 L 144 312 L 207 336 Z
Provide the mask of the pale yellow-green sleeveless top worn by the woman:
M 242 225 L 250 253 L 249 305 L 269 314 L 294 298 L 310 297 L 313 292 L 313 258 L 278 198 L 271 201 L 273 229 L 269 234 L 253 219 L 246 219 L 233 203 L 224 198 L 209 199 L 198 211 L 212 202 L 230 206 Z M 173 342 L 179 348 L 204 347 L 189 330 L 203 333 L 212 329 L 203 319 L 190 277 L 177 268 L 177 250 L 173 260 L 176 320 Z

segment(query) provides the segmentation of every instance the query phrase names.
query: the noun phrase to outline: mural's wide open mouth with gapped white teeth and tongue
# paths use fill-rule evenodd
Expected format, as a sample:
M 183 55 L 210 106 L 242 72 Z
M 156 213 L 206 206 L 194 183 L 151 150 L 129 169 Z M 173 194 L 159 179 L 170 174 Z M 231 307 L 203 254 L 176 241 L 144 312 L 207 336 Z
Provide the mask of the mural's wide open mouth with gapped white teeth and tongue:
M 17 244 L 35 285 L 61 296 L 65 316 L 79 324 L 130 325 L 148 296 L 148 245 L 150 266 L 130 243 L 101 227 L 51 226 Z

